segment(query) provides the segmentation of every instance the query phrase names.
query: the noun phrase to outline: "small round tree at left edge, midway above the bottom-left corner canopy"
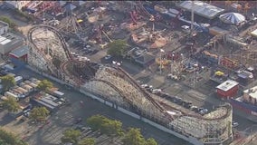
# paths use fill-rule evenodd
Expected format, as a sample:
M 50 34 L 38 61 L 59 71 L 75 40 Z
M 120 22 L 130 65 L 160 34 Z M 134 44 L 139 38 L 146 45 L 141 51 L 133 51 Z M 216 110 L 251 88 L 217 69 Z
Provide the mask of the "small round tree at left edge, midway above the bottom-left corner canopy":
M 7 99 L 2 102 L 2 105 L 7 111 L 10 112 L 18 111 L 20 108 L 19 103 L 14 97 L 7 97 Z

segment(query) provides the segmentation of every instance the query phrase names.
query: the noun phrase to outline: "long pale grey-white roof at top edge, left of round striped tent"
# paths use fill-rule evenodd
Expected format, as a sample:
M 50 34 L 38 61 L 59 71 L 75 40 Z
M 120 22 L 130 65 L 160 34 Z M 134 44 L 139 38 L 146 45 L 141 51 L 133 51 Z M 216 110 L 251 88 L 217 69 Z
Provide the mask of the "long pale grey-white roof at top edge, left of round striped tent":
M 184 1 L 178 6 L 180 8 L 186 9 L 187 11 L 191 11 L 192 5 L 192 1 Z M 195 14 L 204 16 L 205 18 L 214 19 L 218 14 L 222 14 L 224 12 L 224 9 L 214 5 L 209 5 L 201 1 L 195 1 L 194 12 Z

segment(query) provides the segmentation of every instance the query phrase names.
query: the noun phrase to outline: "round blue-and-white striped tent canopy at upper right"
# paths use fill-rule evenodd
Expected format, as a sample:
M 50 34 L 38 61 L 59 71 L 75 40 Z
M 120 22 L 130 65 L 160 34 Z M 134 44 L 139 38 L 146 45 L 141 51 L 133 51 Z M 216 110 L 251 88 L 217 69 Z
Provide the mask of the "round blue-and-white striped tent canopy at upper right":
M 226 24 L 241 24 L 245 21 L 243 14 L 239 13 L 225 13 L 221 14 L 219 18 Z

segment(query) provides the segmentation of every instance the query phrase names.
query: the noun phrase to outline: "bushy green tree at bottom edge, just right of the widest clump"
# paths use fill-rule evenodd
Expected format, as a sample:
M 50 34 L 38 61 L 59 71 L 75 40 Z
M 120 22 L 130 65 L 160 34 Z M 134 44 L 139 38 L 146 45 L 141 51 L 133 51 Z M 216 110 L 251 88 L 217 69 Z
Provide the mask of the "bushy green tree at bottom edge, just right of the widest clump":
M 124 145 L 145 145 L 146 140 L 141 134 L 139 129 L 129 128 L 129 132 L 127 132 L 122 139 Z

